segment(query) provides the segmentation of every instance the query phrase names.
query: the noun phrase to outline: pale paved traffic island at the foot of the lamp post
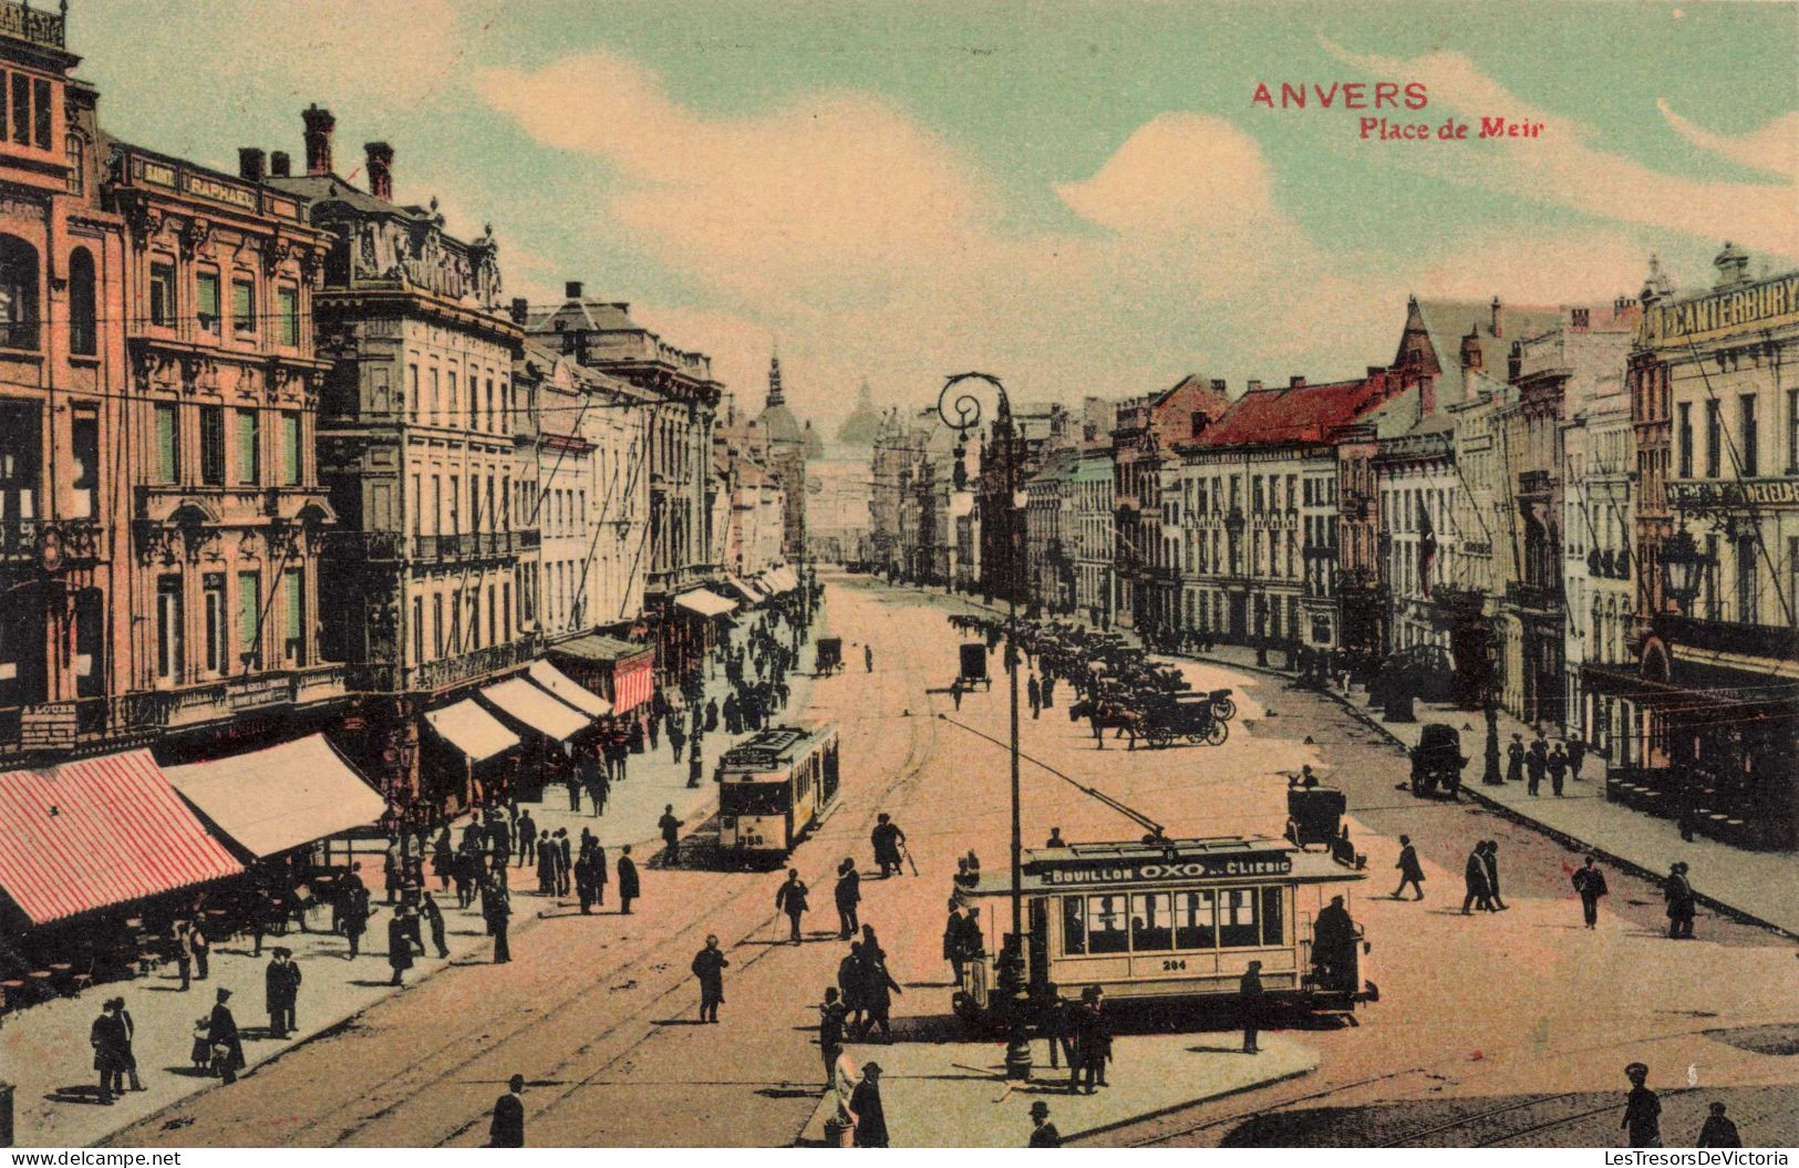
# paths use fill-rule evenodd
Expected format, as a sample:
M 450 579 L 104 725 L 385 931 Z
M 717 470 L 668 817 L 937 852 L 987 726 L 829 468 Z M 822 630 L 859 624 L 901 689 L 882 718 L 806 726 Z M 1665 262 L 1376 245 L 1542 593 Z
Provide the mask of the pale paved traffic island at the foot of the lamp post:
M 1029 1082 L 1007 1082 L 1002 1042 L 851 1046 L 847 1058 L 880 1064 L 892 1146 L 1022 1148 L 1038 1101 L 1074 1141 L 1319 1069 L 1315 1049 L 1283 1035 L 1265 1033 L 1258 1055 L 1241 1047 L 1234 1029 L 1115 1038 L 1106 1085 L 1094 1094 L 1072 1092 L 1069 1071 L 1045 1062 Z M 828 1143 L 824 1125 L 835 1112 L 837 1096 L 826 1092 L 797 1143 Z

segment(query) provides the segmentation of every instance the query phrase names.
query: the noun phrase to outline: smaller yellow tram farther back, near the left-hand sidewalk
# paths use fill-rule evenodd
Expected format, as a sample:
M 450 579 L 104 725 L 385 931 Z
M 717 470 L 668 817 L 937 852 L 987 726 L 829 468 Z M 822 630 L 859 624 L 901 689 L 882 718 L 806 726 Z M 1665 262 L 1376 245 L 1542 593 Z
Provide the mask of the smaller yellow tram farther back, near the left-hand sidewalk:
M 718 849 L 727 862 L 775 866 L 837 803 L 837 723 L 775 725 L 725 750 L 718 783 Z

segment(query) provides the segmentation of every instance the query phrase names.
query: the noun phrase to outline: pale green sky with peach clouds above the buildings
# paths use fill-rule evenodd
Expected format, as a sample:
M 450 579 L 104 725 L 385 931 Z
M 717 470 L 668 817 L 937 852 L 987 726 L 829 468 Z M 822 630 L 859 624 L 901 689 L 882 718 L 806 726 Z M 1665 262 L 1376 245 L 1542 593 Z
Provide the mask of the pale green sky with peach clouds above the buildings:
M 1790 4 L 70 0 L 68 43 L 112 133 L 228 171 L 327 106 L 340 175 L 387 140 L 399 202 L 493 223 L 507 295 L 626 301 L 750 409 L 779 346 L 828 434 L 862 380 L 1241 392 L 1391 362 L 1407 295 L 1799 263 Z M 1382 81 L 1428 104 L 1252 101 Z

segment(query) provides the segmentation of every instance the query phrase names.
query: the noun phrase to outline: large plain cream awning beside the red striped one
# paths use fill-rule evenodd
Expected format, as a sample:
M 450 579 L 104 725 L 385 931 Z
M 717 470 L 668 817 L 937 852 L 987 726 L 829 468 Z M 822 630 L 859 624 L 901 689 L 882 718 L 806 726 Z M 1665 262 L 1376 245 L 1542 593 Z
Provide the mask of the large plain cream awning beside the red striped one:
M 387 799 L 345 763 L 324 734 L 210 763 L 169 767 L 175 790 L 254 857 L 270 857 L 362 828 Z

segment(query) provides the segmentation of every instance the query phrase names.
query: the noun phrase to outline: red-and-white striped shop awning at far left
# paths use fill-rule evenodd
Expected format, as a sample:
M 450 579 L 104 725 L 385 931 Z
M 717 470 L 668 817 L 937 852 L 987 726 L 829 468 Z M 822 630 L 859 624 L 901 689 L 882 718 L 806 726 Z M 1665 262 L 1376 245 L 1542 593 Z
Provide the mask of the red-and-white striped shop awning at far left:
M 34 925 L 243 871 L 149 750 L 0 774 L 0 889 Z

